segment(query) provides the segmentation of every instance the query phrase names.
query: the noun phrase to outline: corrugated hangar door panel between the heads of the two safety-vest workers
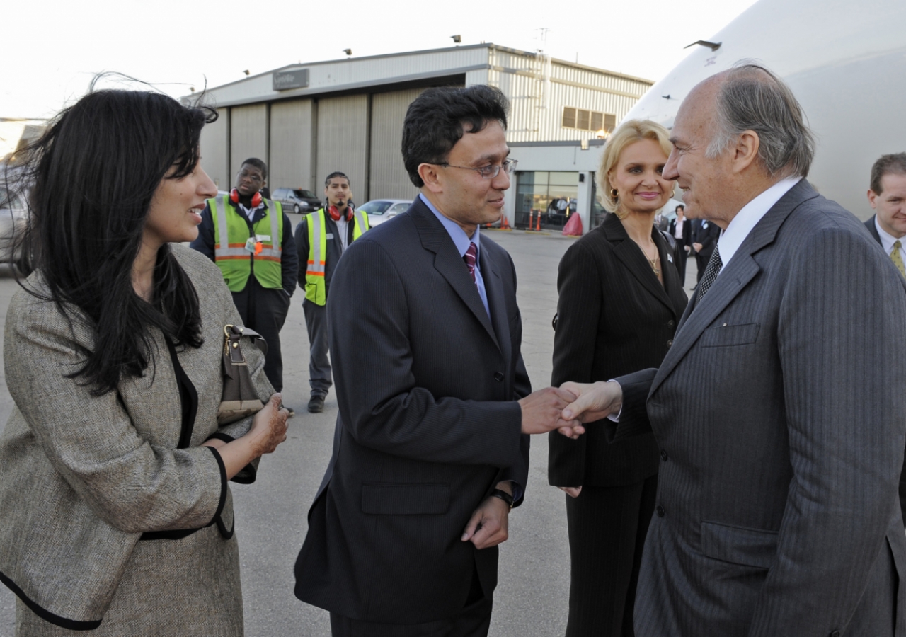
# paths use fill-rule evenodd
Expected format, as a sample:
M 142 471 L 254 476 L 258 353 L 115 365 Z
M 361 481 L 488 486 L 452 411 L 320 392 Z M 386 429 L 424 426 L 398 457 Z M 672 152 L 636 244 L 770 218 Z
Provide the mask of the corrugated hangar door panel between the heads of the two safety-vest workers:
M 312 101 L 278 101 L 271 105 L 271 175 L 274 188 L 313 189 Z M 317 188 L 314 188 L 317 191 Z

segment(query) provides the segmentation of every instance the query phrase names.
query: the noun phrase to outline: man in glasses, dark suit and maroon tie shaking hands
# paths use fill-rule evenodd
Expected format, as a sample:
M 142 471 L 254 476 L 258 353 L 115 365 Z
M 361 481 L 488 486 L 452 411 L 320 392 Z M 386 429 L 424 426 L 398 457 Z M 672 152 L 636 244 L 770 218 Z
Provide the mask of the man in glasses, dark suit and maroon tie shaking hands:
M 483 85 L 413 101 L 402 151 L 421 194 L 333 275 L 340 415 L 295 594 L 335 637 L 487 635 L 525 434 L 582 430 L 558 421 L 572 394 L 530 393 L 513 261 L 478 229 L 516 166 L 506 106 Z

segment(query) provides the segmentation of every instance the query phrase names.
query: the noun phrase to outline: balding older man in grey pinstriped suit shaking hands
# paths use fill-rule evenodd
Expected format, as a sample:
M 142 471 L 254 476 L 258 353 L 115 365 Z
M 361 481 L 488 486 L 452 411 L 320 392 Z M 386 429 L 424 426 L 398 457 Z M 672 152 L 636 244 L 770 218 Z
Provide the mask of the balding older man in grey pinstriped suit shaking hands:
M 660 369 L 564 384 L 564 419 L 660 447 L 635 634 L 906 634 L 906 285 L 805 180 L 773 73 L 699 83 L 671 141 L 664 177 L 723 229 L 708 270 Z

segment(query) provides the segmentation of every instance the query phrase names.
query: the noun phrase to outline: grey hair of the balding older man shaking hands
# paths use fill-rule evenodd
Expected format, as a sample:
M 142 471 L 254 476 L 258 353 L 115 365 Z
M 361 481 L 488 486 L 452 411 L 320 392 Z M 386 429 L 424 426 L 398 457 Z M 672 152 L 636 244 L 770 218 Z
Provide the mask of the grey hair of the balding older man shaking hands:
M 758 135 L 758 159 L 771 177 L 806 177 L 814 134 L 790 88 L 756 63 L 723 73 L 715 106 L 716 131 L 705 154 L 715 159 L 746 130 Z

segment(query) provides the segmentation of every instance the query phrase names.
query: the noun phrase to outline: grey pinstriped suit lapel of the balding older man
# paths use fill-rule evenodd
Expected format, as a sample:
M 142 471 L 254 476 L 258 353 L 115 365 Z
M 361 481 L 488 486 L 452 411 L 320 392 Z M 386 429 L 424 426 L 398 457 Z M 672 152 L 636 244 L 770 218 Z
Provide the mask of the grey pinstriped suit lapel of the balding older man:
M 774 243 L 777 231 L 786 221 L 786 217 L 799 204 L 806 199 L 817 196 L 817 193 L 809 183 L 802 179 L 786 195 L 780 198 L 767 211 L 767 214 L 758 221 L 756 226 L 752 228 L 742 245 L 739 246 L 736 254 L 730 259 L 729 264 L 721 270 L 714 285 L 711 285 L 708 289 L 708 294 L 705 295 L 700 304 L 695 303 L 695 297 L 693 296 L 692 302 L 687 305 L 686 312 L 683 313 L 679 322 L 676 336 L 673 337 L 673 345 L 670 347 L 670 351 L 667 352 L 664 361 L 660 363 L 660 369 L 651 383 L 650 396 L 689 352 L 692 345 L 699 340 L 701 333 L 711 323 L 714 323 L 718 315 L 761 271 L 761 266 L 758 265 L 754 255 L 762 248 Z M 698 287 L 696 288 L 697 292 Z

